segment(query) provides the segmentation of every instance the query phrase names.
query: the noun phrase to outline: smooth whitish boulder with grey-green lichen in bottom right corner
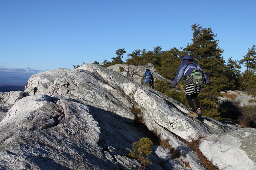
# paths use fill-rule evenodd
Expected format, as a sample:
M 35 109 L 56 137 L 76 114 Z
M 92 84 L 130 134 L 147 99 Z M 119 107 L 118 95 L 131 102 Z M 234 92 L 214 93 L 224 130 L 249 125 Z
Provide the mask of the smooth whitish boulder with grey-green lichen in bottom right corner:
M 256 169 L 256 129 L 241 128 L 220 135 L 207 135 L 199 149 L 220 169 Z

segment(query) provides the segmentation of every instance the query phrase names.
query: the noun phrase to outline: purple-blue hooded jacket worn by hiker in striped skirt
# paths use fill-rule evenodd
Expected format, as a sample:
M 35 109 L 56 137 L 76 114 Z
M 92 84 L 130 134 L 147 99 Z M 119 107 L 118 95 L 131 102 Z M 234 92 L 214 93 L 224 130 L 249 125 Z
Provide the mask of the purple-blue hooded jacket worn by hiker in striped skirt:
M 191 62 L 191 64 L 188 64 L 189 61 Z M 185 70 L 185 68 L 186 68 L 186 70 Z M 177 83 L 180 81 L 180 79 L 182 79 L 183 75 L 185 77 L 189 76 L 191 71 L 194 69 L 202 70 L 200 68 L 200 66 L 194 62 L 194 59 L 192 56 L 184 56 L 182 58 L 182 62 L 180 64 L 180 66 L 178 67 L 178 73 L 177 73 L 176 77 L 174 78 L 172 85 L 176 86 Z M 202 72 L 203 72 L 203 75 L 205 78 L 205 83 L 206 84 L 210 83 L 210 80 L 209 80 L 208 76 L 206 75 L 206 73 L 204 72 L 204 70 L 202 70 Z M 189 83 L 188 80 L 185 80 L 185 82 L 186 82 L 186 84 Z

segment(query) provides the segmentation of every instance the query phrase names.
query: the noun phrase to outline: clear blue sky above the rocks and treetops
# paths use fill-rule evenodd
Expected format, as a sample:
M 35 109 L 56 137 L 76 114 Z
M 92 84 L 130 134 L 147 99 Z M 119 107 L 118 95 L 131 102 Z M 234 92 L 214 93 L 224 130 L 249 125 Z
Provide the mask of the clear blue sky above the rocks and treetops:
M 211 28 L 227 61 L 256 44 L 255 0 L 0 0 L 0 76 L 112 61 L 119 48 L 191 43 Z M 123 58 L 124 60 L 124 58 Z

